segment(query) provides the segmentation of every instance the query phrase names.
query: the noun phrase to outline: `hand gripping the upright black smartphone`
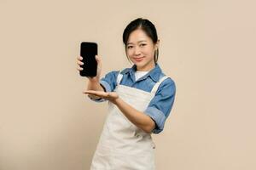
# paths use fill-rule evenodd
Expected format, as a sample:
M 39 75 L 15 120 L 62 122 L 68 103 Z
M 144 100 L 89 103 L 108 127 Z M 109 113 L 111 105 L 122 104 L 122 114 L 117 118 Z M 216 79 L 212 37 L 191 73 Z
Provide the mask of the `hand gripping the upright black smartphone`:
M 101 72 L 102 72 L 102 59 L 100 56 L 96 55 L 95 56 L 96 61 L 97 61 L 97 73 L 96 73 L 96 77 L 87 77 L 91 82 L 100 82 L 100 78 L 101 78 Z M 77 70 L 78 71 L 83 71 L 83 68 L 81 67 L 81 65 L 84 65 L 84 63 L 82 62 L 82 57 L 79 56 L 77 58 Z

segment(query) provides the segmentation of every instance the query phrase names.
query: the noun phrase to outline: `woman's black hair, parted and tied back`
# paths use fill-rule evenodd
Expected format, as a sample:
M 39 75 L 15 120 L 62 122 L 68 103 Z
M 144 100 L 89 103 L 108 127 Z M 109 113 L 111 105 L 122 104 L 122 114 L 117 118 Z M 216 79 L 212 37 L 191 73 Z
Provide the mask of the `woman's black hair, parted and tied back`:
M 136 20 L 132 20 L 130 24 L 126 26 L 125 31 L 123 33 L 123 42 L 125 43 L 125 52 L 126 52 L 127 41 L 131 32 L 137 29 L 142 29 L 147 34 L 147 36 L 152 39 L 154 44 L 158 41 L 157 32 L 154 24 L 147 19 L 137 18 Z M 157 48 L 156 52 L 154 52 L 154 63 L 157 63 L 158 56 L 159 56 L 159 49 Z M 128 57 L 127 59 L 130 61 Z

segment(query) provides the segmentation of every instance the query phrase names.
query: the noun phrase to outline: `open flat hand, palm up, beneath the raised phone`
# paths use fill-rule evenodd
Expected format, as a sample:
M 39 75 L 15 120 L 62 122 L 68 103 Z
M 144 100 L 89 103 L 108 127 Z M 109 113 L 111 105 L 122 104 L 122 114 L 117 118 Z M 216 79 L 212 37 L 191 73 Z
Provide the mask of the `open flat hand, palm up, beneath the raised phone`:
M 119 98 L 119 94 L 116 92 L 103 92 L 95 90 L 85 90 L 83 94 L 93 94 L 103 99 L 108 99 L 109 101 L 115 103 L 115 100 Z

